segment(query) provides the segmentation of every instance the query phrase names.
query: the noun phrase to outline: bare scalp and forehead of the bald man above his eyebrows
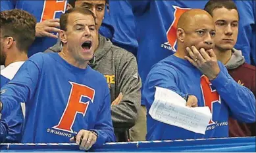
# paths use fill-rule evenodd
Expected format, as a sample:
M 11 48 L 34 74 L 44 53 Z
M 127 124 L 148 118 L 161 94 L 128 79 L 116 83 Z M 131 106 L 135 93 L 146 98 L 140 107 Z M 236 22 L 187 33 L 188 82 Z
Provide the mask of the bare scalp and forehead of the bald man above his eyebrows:
M 201 24 L 202 22 L 213 23 L 213 18 L 205 10 L 192 9 L 184 12 L 180 19 L 178 20 L 177 28 L 186 29 L 194 27 L 196 24 Z

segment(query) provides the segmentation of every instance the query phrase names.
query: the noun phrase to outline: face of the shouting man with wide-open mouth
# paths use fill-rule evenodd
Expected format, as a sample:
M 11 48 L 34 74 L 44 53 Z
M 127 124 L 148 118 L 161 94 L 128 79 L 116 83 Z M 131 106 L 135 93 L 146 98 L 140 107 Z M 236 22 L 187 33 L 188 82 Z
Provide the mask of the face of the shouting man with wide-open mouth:
M 97 29 L 93 16 L 73 12 L 68 16 L 66 45 L 77 61 L 89 61 L 96 48 Z

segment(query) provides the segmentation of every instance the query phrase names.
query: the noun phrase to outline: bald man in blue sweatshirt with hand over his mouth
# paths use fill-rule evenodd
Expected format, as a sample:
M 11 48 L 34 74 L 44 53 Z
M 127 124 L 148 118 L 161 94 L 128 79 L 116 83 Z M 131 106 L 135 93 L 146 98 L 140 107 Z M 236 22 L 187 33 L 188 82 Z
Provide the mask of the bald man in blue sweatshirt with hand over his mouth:
M 228 137 L 229 116 L 255 122 L 253 93 L 228 75 L 213 52 L 215 24 L 211 15 L 200 9 L 184 12 L 176 35 L 177 52 L 159 61 L 145 81 L 142 95 L 147 110 L 154 101 L 155 86 L 159 86 L 186 97 L 187 103 L 193 98 L 199 107 L 209 107 L 212 118 L 203 135 L 154 120 L 147 112 L 147 140 Z

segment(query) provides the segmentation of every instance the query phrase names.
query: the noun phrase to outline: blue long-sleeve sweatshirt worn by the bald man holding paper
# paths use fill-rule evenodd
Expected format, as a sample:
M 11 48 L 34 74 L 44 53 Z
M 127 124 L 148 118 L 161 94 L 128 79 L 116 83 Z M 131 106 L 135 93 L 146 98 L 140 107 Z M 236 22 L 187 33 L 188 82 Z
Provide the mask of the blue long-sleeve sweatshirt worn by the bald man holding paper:
M 233 80 L 222 63 L 218 65 L 220 73 L 211 81 L 189 61 L 173 55 L 153 66 L 142 93 L 147 107 L 147 140 L 228 137 L 229 116 L 242 122 L 255 122 L 253 93 Z M 187 93 L 195 95 L 199 107 L 209 107 L 212 118 L 205 135 L 151 118 L 148 111 L 154 101 L 155 86 L 168 88 L 182 97 Z

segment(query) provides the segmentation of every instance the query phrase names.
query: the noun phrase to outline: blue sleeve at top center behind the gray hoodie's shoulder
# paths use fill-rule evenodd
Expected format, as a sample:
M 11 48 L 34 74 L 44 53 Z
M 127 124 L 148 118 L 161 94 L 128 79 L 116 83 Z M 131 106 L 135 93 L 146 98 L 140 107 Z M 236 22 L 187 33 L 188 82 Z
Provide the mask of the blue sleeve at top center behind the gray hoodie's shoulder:
M 125 10 L 125 11 L 123 11 Z M 115 34 L 113 44 L 137 55 L 138 41 L 132 6 L 128 1 L 109 1 L 109 13 L 112 18 Z

